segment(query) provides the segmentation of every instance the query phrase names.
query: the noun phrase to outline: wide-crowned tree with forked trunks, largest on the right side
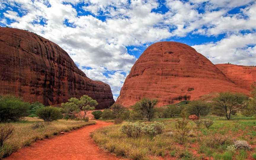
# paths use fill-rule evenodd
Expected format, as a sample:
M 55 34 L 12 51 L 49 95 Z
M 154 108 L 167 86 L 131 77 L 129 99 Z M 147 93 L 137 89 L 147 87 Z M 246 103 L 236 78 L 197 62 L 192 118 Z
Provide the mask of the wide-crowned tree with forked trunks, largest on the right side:
M 246 105 L 247 96 L 240 93 L 222 92 L 213 99 L 213 110 L 216 115 L 225 115 L 230 120 L 231 115 L 242 110 Z

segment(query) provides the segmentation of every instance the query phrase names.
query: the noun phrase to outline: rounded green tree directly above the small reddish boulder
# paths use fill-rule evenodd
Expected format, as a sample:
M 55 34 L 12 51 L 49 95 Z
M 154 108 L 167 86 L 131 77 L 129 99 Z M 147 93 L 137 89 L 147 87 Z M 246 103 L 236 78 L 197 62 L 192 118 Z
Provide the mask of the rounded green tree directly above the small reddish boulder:
M 190 115 L 200 116 L 208 115 L 210 111 L 210 104 L 201 100 L 194 100 L 188 104 L 188 113 Z

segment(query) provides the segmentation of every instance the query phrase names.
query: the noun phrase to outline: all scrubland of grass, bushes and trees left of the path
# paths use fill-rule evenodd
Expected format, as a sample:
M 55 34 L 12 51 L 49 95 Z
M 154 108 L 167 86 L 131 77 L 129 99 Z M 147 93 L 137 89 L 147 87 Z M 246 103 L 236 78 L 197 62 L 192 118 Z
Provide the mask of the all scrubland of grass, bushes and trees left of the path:
M 37 140 L 96 123 L 85 117 L 87 110 L 97 105 L 95 100 L 84 95 L 79 100 L 71 98 L 68 104 L 51 107 L 11 95 L 0 96 L 0 159 Z

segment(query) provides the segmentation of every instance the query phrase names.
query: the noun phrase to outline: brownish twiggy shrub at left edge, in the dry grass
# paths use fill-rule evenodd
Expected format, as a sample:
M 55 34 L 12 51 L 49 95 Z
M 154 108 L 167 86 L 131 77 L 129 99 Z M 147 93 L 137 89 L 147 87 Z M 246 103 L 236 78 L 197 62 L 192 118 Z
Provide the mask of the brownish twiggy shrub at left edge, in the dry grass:
M 0 125 L 0 147 L 3 146 L 4 141 L 9 139 L 14 132 L 14 127 L 10 124 Z

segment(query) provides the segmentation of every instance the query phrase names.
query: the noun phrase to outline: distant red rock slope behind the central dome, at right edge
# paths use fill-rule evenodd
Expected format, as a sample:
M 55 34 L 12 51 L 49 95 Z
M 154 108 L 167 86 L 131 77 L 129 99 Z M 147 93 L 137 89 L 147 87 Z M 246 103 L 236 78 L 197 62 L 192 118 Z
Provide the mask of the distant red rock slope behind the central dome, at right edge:
M 234 64 L 216 64 L 228 79 L 236 85 L 251 90 L 251 85 L 256 82 L 256 66 L 239 66 Z

